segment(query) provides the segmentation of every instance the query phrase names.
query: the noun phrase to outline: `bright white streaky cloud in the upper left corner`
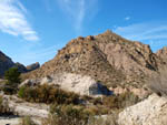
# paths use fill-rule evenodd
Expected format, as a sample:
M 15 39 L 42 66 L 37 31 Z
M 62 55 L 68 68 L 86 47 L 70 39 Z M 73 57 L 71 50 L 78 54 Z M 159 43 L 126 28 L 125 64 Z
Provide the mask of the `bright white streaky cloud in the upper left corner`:
M 37 32 L 26 18 L 27 9 L 19 0 L 0 0 L 0 30 L 27 41 L 38 41 Z

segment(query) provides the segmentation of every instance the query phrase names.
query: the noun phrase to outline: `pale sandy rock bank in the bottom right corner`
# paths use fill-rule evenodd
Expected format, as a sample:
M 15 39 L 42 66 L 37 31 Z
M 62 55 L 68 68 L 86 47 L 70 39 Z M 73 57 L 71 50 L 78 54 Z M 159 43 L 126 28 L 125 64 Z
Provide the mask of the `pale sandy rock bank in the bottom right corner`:
M 119 125 L 166 125 L 167 98 L 150 95 L 147 100 L 127 107 L 119 114 Z

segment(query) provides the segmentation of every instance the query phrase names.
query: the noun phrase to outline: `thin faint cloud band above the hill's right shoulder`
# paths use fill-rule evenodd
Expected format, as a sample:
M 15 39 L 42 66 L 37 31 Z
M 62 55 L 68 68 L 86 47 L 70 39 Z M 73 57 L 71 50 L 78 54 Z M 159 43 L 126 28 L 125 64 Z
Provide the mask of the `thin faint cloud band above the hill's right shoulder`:
M 164 22 L 136 23 L 128 27 L 118 27 L 114 31 L 127 39 L 137 41 L 167 39 L 167 23 Z

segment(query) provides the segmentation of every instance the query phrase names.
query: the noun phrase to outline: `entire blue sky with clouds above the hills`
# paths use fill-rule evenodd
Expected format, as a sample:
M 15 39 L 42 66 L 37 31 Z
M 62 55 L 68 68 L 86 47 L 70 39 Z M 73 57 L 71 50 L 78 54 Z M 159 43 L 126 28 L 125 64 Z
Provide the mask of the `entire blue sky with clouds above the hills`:
M 107 29 L 156 52 L 167 45 L 167 0 L 0 0 L 0 50 L 24 65 Z

